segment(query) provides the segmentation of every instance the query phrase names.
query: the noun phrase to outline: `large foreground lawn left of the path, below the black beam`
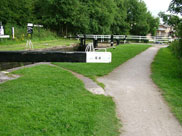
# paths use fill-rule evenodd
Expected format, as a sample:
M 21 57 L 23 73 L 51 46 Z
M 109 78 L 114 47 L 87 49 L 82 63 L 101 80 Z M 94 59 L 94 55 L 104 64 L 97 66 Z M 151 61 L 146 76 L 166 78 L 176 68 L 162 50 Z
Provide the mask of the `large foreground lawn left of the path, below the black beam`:
M 112 98 L 93 95 L 71 73 L 39 65 L 0 84 L 1 136 L 118 136 Z

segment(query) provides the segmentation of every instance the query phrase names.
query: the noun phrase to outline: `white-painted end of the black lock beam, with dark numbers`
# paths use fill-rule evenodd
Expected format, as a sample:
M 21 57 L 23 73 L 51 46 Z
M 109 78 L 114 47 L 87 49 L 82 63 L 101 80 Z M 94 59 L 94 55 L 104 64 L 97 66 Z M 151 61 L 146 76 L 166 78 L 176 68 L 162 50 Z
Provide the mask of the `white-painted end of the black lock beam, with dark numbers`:
M 87 63 L 111 63 L 111 52 L 86 52 Z

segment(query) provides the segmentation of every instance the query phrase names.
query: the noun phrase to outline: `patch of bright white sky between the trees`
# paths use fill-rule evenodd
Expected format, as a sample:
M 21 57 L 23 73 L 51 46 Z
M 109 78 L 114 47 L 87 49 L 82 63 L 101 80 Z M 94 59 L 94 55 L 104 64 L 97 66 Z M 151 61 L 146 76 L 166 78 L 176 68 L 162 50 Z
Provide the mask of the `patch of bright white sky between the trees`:
M 172 0 L 143 0 L 152 15 L 156 16 L 160 11 L 166 12 Z

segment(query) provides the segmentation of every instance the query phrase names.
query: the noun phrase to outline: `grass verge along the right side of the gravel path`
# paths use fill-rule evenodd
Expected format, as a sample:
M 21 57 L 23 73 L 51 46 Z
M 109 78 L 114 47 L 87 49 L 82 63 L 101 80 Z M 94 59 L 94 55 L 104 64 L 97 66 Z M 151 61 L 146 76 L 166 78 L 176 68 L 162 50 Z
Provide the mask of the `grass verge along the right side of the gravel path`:
M 152 79 L 162 89 L 164 98 L 182 124 L 182 62 L 169 48 L 160 49 L 155 57 Z

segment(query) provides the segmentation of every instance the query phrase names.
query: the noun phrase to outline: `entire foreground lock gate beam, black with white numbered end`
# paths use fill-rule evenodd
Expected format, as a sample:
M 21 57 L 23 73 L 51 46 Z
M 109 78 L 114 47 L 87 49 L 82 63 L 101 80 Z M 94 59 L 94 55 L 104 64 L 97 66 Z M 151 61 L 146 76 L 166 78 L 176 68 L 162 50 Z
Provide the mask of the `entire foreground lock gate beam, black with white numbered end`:
M 110 63 L 110 52 L 0 51 L 0 62 Z

